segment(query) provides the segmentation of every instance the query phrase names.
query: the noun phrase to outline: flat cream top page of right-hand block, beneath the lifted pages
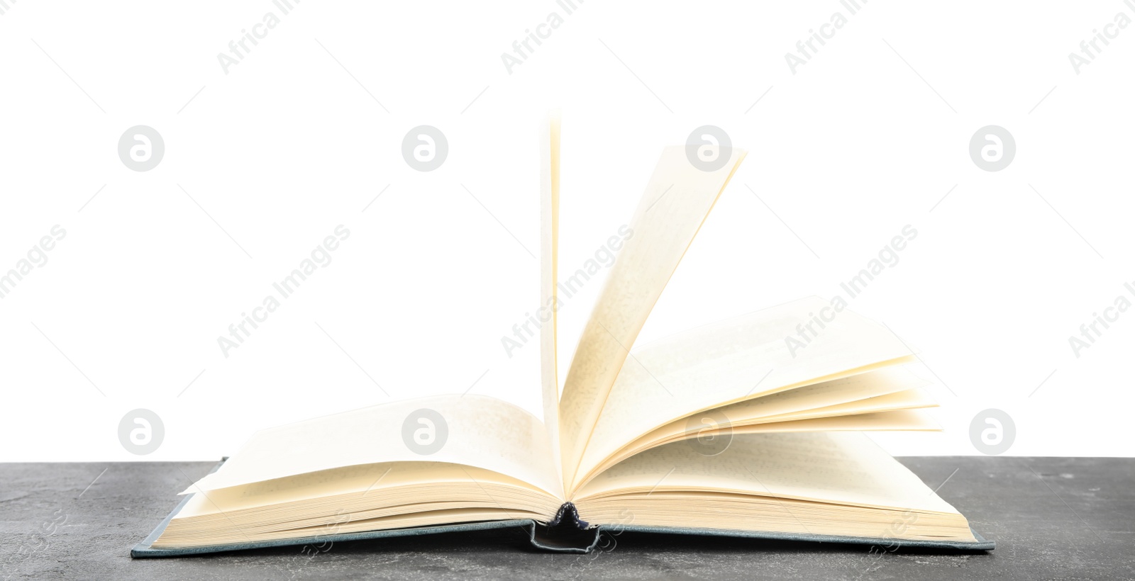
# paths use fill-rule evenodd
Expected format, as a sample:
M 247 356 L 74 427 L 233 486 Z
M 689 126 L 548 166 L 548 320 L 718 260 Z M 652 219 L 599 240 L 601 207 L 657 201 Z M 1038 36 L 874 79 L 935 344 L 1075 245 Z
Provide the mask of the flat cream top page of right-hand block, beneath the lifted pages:
M 878 508 L 955 513 L 913 472 L 856 432 L 734 436 L 701 455 L 688 443 L 654 448 L 603 472 L 577 498 L 631 491 L 720 490 Z

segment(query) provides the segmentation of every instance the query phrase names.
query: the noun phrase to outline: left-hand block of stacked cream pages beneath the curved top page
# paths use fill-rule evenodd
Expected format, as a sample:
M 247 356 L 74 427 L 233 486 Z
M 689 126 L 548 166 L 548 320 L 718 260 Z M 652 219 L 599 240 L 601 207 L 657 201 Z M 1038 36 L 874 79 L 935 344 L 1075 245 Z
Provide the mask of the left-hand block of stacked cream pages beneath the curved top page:
M 470 520 L 547 522 L 563 500 L 496 472 L 389 462 L 309 472 L 219 490 L 194 489 L 154 546 L 209 546 Z

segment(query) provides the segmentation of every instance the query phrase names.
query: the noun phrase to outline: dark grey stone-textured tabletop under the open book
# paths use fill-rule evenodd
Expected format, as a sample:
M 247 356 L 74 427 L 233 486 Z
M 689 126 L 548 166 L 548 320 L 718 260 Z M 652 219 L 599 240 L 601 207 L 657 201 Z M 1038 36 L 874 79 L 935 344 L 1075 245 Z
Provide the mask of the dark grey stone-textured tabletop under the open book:
M 1135 579 L 1135 458 L 900 460 L 997 550 L 624 532 L 552 555 L 516 529 L 131 559 L 215 462 L 0 464 L 0 579 Z

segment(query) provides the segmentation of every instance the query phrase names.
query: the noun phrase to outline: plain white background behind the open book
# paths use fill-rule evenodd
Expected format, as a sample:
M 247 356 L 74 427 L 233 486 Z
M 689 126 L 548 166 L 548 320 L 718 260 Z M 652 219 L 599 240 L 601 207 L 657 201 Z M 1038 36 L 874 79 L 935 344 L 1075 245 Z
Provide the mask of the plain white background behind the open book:
M 873 0 L 796 74 L 784 54 L 840 3 L 587 0 L 512 74 L 501 54 L 555 2 L 7 5 L 0 271 L 67 235 L 0 298 L 0 461 L 212 460 L 471 385 L 538 414 L 538 347 L 510 359 L 501 337 L 538 305 L 536 136 L 557 107 L 562 271 L 630 219 L 662 146 L 712 124 L 750 151 L 640 344 L 840 294 L 909 224 L 851 309 L 920 348 L 945 431 L 876 440 L 976 454 L 969 422 L 995 407 L 1009 455 L 1135 453 L 1135 312 L 1068 344 L 1135 281 L 1135 25 L 1079 74 L 1068 59 L 1135 17 L 1123 2 Z M 217 54 L 268 11 L 226 74 Z M 401 153 L 423 124 L 449 144 L 431 172 Z M 997 172 L 968 153 L 991 124 L 1017 144 Z M 134 125 L 165 140 L 153 170 L 118 158 Z M 217 337 L 340 224 L 333 262 L 226 359 Z M 599 286 L 561 312 L 561 371 Z M 148 456 L 118 440 L 138 407 L 166 428 Z

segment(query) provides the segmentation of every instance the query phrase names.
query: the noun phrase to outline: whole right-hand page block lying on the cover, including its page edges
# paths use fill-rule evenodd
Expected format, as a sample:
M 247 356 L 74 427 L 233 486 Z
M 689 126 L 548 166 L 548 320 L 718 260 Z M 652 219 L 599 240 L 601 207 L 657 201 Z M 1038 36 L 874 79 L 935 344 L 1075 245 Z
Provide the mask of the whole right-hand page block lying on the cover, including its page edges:
M 975 540 L 953 506 L 861 433 L 742 435 L 716 456 L 687 444 L 620 463 L 577 507 L 607 525 Z

